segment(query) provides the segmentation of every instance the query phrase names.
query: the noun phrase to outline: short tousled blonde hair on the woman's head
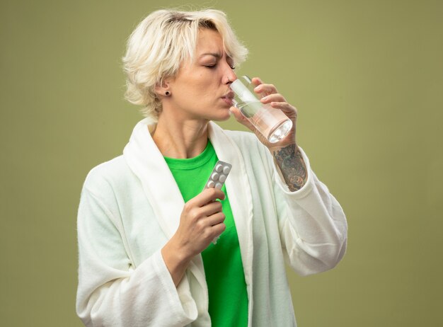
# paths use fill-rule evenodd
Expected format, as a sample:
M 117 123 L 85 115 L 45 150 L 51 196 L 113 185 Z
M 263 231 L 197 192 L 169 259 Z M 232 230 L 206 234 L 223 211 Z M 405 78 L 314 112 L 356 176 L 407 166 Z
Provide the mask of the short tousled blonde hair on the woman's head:
M 248 50 L 239 42 L 223 11 L 159 10 L 137 25 L 127 41 L 123 67 L 127 74 L 125 98 L 142 105 L 142 114 L 156 121 L 161 101 L 154 87 L 166 77 L 174 77 L 183 62 L 192 60 L 200 28 L 217 30 L 226 54 L 238 65 Z

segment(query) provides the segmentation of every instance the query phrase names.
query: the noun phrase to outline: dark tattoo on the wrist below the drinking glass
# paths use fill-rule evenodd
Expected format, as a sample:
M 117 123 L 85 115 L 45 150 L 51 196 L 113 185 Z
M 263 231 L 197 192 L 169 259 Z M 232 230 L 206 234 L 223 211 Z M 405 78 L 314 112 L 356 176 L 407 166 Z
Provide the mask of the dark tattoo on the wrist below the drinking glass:
M 306 165 L 295 144 L 273 151 L 275 161 L 282 171 L 289 190 L 299 190 L 306 183 Z

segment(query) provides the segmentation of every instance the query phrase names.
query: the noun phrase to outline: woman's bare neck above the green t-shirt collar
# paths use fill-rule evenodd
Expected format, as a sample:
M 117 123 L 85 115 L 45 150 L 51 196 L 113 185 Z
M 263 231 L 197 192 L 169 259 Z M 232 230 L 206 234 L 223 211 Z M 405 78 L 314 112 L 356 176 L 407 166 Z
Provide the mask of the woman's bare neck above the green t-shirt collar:
M 207 120 L 176 120 L 163 111 L 152 139 L 163 156 L 193 158 L 207 146 L 207 124 Z

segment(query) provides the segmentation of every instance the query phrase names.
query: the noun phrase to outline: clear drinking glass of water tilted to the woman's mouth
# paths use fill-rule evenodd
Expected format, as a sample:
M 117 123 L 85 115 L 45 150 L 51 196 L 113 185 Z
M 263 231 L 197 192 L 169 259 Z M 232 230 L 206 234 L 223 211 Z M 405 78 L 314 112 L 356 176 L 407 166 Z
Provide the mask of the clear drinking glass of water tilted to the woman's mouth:
M 228 91 L 234 92 L 232 102 L 270 143 L 279 142 L 292 128 L 292 120 L 282 110 L 260 102 L 263 96 L 255 93 L 255 86 L 248 76 L 238 77 Z M 258 98 L 260 96 L 260 98 Z

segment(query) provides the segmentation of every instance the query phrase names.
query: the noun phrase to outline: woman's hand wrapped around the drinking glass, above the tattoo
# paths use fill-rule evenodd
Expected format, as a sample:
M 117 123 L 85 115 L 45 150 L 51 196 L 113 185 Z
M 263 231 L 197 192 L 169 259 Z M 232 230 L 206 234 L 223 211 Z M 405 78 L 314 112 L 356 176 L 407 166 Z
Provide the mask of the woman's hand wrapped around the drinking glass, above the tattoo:
M 296 122 L 297 122 L 297 109 L 287 103 L 284 96 L 282 96 L 280 93 L 278 93 L 277 88 L 275 88 L 272 84 L 264 84 L 258 77 L 254 77 L 252 79 L 252 83 L 256 86 L 254 91 L 255 93 L 258 93 L 259 97 L 264 96 L 260 99 L 260 102 L 263 104 L 268 104 L 272 108 L 280 109 L 282 112 L 289 117 L 290 120 L 292 120 L 292 130 L 287 134 L 287 137 L 284 137 L 281 141 L 277 143 L 270 143 L 267 141 L 267 139 L 261 134 L 252 124 L 249 122 L 249 120 L 246 119 L 245 116 L 242 115 L 240 110 L 235 107 L 231 107 L 231 113 L 234 114 L 234 117 L 236 117 L 236 120 L 240 122 L 242 125 L 245 125 L 248 127 L 251 131 L 257 135 L 258 139 L 260 139 L 260 142 L 265 144 L 265 146 L 268 149 L 273 148 L 282 148 L 287 147 L 289 144 L 297 144 L 295 139 L 295 132 L 296 132 Z

